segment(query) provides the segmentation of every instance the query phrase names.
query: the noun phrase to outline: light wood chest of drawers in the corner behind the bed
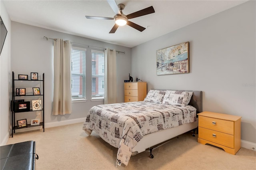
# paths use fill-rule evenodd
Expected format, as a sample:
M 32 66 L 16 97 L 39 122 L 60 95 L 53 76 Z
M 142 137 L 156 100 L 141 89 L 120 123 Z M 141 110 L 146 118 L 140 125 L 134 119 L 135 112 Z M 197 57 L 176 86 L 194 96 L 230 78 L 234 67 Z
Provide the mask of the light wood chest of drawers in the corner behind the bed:
M 147 95 L 147 82 L 124 83 L 124 102 L 143 101 Z

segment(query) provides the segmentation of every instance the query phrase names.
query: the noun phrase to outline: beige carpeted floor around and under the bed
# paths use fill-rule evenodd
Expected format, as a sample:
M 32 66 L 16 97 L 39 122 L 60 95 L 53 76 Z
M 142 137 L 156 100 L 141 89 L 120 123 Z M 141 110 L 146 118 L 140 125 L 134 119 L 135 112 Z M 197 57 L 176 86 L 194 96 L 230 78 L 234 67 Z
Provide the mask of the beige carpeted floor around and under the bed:
M 95 132 L 88 136 L 83 123 L 14 134 L 7 144 L 36 141 L 37 170 L 256 170 L 256 152 L 241 148 L 236 155 L 197 142 L 192 132 L 153 150 L 132 156 L 128 166 L 116 167 L 117 148 Z

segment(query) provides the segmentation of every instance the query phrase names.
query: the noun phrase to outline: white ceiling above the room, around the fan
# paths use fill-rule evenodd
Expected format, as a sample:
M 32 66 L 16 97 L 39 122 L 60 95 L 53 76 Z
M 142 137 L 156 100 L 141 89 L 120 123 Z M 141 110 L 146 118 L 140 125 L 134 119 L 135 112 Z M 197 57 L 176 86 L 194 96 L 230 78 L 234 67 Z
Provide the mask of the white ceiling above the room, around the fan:
M 113 18 L 106 0 L 3 0 L 10 19 L 76 36 L 134 47 L 239 4 L 245 0 L 116 0 L 128 15 L 149 6 L 155 13 L 130 19 L 146 28 L 139 32 L 120 26 L 109 34 L 114 20 L 86 19 L 85 16 Z M 47 36 L 47 35 L 45 35 Z

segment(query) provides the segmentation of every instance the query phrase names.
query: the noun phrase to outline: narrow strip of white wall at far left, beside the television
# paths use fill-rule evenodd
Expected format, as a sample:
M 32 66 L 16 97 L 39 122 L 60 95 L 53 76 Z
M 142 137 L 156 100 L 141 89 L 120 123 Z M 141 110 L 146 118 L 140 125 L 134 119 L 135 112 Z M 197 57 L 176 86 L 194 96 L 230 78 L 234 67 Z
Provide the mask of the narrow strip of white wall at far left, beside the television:
M 0 16 L 8 31 L 0 55 L 0 145 L 4 145 L 9 137 L 11 20 L 2 1 L 0 1 Z

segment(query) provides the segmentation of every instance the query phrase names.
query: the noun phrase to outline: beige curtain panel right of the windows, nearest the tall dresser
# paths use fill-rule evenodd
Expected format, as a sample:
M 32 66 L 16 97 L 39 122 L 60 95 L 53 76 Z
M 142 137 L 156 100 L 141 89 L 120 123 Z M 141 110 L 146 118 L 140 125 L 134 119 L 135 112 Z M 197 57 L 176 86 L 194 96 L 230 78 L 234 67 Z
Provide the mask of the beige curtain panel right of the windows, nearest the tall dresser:
M 105 50 L 104 104 L 117 103 L 116 50 Z

